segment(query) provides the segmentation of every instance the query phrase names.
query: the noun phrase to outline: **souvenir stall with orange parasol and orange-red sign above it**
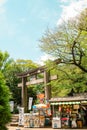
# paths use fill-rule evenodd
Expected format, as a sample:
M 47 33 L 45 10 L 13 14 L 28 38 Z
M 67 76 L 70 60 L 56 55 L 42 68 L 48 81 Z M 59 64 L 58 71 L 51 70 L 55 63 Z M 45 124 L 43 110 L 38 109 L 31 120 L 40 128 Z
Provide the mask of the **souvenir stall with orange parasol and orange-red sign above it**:
M 51 108 L 49 102 L 44 102 L 44 94 L 38 94 L 38 103 L 32 106 L 30 113 L 23 113 L 20 109 L 20 125 L 26 128 L 43 128 L 46 125 L 51 126 L 49 118 L 51 117 Z M 21 114 L 22 113 L 22 114 Z M 23 121 L 22 121 L 23 120 Z M 21 123 L 21 121 L 23 123 Z

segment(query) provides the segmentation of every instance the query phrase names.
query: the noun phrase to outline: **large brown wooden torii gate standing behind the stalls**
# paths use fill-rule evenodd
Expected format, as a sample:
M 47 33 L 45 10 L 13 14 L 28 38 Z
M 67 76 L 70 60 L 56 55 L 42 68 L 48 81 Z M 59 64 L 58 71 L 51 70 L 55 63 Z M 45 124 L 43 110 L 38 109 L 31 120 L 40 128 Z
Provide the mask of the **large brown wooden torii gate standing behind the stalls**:
M 56 64 L 60 63 L 60 59 L 54 61 Z M 42 73 L 43 78 L 38 79 L 37 75 Z M 19 78 L 22 79 L 22 83 L 18 84 L 18 87 L 22 87 L 22 107 L 24 107 L 24 111 L 27 111 L 27 86 L 33 84 L 44 83 L 44 90 L 45 90 L 45 98 L 49 100 L 51 98 L 51 86 L 48 83 L 51 80 L 57 79 L 57 75 L 51 76 L 50 71 L 47 71 L 45 66 L 38 67 L 34 70 L 28 71 L 26 73 L 21 73 L 17 75 Z M 32 78 L 32 80 L 28 81 L 27 77 Z

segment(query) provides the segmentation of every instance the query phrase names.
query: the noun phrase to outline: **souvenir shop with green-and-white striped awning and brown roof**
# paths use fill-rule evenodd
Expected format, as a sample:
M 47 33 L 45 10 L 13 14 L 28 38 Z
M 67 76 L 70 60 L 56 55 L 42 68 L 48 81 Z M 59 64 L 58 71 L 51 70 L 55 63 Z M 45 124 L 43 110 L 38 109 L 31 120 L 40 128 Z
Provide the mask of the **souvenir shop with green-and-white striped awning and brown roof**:
M 87 94 L 51 98 L 52 128 L 87 128 Z

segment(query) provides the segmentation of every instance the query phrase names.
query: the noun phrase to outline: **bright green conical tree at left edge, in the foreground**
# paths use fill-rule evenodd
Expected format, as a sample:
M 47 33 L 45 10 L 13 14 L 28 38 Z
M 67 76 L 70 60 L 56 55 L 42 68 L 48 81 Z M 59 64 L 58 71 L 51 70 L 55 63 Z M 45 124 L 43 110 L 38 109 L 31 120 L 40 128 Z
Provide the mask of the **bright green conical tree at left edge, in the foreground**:
M 6 86 L 3 74 L 0 72 L 0 130 L 7 130 L 6 124 L 10 121 L 9 100 L 10 91 Z

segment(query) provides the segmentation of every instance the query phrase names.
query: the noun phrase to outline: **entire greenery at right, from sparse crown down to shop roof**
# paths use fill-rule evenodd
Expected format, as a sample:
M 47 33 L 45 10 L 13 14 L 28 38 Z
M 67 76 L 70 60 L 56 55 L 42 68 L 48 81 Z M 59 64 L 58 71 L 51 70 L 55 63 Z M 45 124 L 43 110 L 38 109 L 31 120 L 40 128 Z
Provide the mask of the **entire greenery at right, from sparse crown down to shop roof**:
M 42 51 L 60 59 L 55 68 L 58 80 L 52 81 L 53 95 L 66 95 L 87 91 L 87 9 L 78 17 L 64 22 L 57 28 L 47 29 L 40 39 Z

